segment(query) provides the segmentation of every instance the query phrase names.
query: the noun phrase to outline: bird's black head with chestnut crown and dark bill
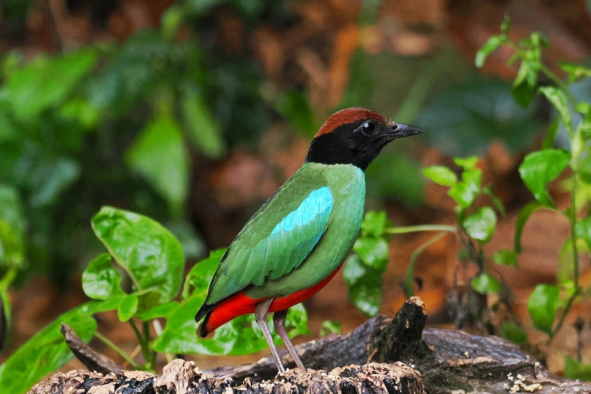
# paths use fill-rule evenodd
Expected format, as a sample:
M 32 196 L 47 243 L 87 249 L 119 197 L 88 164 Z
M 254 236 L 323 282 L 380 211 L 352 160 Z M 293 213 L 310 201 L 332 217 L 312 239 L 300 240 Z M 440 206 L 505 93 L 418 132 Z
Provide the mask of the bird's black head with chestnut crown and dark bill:
M 353 164 L 365 171 L 388 142 L 421 132 L 369 109 L 342 109 L 330 116 L 314 136 L 306 162 Z

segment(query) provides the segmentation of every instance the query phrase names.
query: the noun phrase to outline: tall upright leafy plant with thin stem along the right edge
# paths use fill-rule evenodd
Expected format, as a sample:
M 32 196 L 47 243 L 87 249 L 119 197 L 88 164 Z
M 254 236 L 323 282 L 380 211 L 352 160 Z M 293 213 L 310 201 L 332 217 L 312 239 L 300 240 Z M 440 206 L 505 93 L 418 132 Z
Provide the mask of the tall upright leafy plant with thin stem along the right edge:
M 589 163 L 591 161 L 591 104 L 573 95 L 574 84 L 591 77 L 591 69 L 580 64 L 560 62 L 558 67 L 564 73 L 560 78 L 548 67 L 542 58 L 543 48 L 550 42 L 538 32 L 515 42 L 509 38 L 511 20 L 505 17 L 501 34 L 489 38 L 476 55 L 476 65 L 482 66 L 486 57 L 505 45 L 514 51 L 509 64 L 521 61 L 512 93 L 515 100 L 527 106 L 537 92 L 556 110 L 557 116 L 551 122 L 540 151 L 528 154 L 519 166 L 519 174 L 524 184 L 533 194 L 535 201 L 522 209 L 515 229 L 514 251 L 521 251 L 521 233 L 527 219 L 537 209 L 548 209 L 563 215 L 569 220 L 570 235 L 566 240 L 558 264 L 557 284 L 538 285 L 528 300 L 528 311 L 534 327 L 548 334 L 550 342 L 564 324 L 566 315 L 573 304 L 584 297 L 589 289 L 584 289 L 579 281 L 580 254 L 589 250 L 589 231 L 591 221 L 588 217 L 590 198 Z M 551 82 L 548 86 L 538 86 L 544 77 Z M 553 147 L 558 125 L 564 128 L 568 139 L 568 149 Z M 556 206 L 548 194 L 548 183 L 566 177 L 564 185 L 570 191 L 570 204 L 564 209 Z M 560 313 L 558 312 L 560 311 Z

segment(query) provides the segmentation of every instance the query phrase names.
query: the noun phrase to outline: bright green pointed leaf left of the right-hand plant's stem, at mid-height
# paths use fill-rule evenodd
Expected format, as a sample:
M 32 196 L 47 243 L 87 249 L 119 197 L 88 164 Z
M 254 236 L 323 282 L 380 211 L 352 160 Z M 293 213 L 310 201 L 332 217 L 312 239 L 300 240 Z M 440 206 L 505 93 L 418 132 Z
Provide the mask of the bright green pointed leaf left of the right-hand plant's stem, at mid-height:
M 519 175 L 535 199 L 545 207 L 554 207 L 547 184 L 569 165 L 570 154 L 557 149 L 544 149 L 528 154 L 519 165 Z

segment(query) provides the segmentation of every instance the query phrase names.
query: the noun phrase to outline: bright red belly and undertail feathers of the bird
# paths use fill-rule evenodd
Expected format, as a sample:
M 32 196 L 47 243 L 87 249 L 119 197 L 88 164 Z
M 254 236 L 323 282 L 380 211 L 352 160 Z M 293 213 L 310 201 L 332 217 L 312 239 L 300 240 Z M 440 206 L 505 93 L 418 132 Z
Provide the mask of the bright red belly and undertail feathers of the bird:
M 330 282 L 330 279 L 336 275 L 339 269 L 340 266 L 319 284 L 304 290 L 300 290 L 285 297 L 275 298 L 275 300 L 271 302 L 271 305 L 269 306 L 269 312 L 286 310 L 287 308 L 293 307 L 294 305 L 312 297 L 314 294 L 316 294 L 316 292 L 322 289 L 324 285 Z M 207 318 L 207 323 L 205 325 L 207 332 L 212 332 L 220 325 L 228 323 L 228 321 L 235 317 L 254 313 L 256 305 L 264 300 L 265 298 L 252 299 L 248 297 L 244 291 L 236 293 L 235 295 L 232 295 L 232 297 L 226 298 L 217 304 L 216 307 L 210 312 L 209 318 Z

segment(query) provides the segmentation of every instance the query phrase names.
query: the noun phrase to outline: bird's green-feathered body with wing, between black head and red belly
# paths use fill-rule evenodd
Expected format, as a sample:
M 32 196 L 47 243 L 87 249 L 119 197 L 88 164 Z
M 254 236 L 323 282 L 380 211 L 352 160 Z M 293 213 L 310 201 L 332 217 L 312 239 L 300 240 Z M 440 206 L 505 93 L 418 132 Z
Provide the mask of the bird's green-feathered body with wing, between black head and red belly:
M 263 292 L 263 297 L 277 297 L 285 289 L 307 288 L 315 284 L 311 281 L 326 278 L 334 271 L 335 263 L 342 263 L 355 240 L 364 200 L 365 179 L 359 168 L 304 164 L 233 240 L 217 268 L 205 303 L 215 304 L 247 287 L 249 292 Z M 314 275 L 298 278 L 300 266 L 308 265 L 309 256 L 319 245 L 331 246 L 325 240 L 327 232 L 333 230 L 340 240 L 332 245 L 335 250 L 323 252 L 327 264 L 320 259 Z M 307 275 L 307 270 L 303 271 Z M 290 281 L 293 275 L 298 283 Z

